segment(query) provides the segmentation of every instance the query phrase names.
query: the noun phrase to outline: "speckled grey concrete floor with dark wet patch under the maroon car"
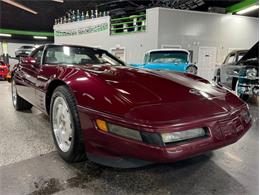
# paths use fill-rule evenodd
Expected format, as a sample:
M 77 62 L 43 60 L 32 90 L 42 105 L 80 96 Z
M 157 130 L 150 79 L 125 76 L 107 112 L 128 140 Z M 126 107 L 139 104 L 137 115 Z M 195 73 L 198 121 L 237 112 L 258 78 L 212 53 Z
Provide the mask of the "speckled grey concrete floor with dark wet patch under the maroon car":
M 258 194 L 258 107 L 237 143 L 189 160 L 138 169 L 65 163 L 55 152 L 48 117 L 16 112 L 0 82 L 0 194 Z

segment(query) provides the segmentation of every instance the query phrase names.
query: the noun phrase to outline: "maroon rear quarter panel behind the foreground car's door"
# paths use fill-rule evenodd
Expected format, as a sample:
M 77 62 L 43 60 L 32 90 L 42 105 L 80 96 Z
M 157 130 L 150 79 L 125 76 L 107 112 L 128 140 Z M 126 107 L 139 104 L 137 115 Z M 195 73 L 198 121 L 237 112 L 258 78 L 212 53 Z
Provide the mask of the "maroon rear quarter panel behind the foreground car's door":
M 36 49 L 31 57 L 35 58 L 35 64 L 20 60 L 17 71 L 17 92 L 31 104 L 35 105 L 35 87 L 37 82 L 37 72 L 41 65 L 43 46 Z

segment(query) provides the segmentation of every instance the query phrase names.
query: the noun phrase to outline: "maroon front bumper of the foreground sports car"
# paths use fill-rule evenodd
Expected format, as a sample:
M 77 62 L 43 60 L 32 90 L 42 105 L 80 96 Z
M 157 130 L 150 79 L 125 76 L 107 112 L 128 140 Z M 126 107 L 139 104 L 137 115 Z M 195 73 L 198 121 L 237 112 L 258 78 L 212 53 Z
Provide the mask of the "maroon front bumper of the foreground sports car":
M 79 108 L 79 115 L 85 149 L 90 160 L 107 166 L 125 168 L 138 167 L 149 163 L 175 162 L 232 144 L 247 132 L 252 123 L 251 120 L 246 123 L 240 111 L 237 110 L 228 116 L 218 117 L 218 119 L 207 118 L 202 121 L 190 121 L 188 124 L 176 128 L 169 125 L 168 128 L 172 131 L 207 127 L 209 136 L 165 146 L 146 144 L 97 130 L 94 120 L 97 117 L 103 117 L 104 120 L 115 123 L 117 119 L 111 116 L 96 115 L 96 113 L 83 108 Z M 117 120 L 117 124 L 124 122 Z M 151 126 L 141 129 L 156 133 L 160 127 Z

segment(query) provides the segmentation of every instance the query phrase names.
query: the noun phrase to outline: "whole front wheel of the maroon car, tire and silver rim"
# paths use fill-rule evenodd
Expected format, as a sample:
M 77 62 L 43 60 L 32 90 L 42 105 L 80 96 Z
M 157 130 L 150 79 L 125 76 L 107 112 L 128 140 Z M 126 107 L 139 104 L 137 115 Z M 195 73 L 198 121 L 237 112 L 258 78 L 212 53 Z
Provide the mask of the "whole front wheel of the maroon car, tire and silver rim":
M 53 92 L 50 119 L 54 143 L 60 156 L 67 162 L 85 160 L 76 101 L 66 86 L 59 86 Z

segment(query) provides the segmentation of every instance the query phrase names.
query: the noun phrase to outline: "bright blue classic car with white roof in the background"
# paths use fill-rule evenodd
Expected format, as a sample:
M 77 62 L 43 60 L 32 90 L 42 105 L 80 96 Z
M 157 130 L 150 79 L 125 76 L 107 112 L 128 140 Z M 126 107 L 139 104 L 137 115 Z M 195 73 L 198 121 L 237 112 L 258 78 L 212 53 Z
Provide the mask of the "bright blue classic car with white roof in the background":
M 190 53 L 185 49 L 154 49 L 145 53 L 144 64 L 132 67 L 187 72 L 197 74 L 197 66 L 190 63 Z

